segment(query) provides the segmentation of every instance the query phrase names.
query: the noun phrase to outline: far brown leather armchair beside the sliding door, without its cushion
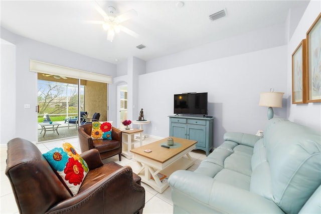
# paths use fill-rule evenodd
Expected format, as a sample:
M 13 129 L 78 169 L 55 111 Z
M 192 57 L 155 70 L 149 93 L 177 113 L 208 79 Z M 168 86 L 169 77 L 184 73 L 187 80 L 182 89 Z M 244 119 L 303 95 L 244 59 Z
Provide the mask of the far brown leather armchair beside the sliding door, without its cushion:
M 89 149 L 97 149 L 100 153 L 101 159 L 112 157 L 116 154 L 121 161 L 121 131 L 115 127 L 111 130 L 111 140 L 91 138 L 92 124 L 84 124 L 78 127 L 78 137 L 81 152 Z

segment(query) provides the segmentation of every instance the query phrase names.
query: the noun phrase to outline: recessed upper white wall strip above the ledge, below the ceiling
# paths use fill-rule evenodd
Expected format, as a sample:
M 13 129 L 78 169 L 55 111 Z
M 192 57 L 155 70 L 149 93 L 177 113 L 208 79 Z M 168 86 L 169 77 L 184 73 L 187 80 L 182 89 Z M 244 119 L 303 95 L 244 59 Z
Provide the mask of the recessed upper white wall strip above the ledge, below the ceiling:
M 184 52 L 159 57 L 146 62 L 146 73 L 285 45 L 284 32 L 285 24 L 274 25 Z

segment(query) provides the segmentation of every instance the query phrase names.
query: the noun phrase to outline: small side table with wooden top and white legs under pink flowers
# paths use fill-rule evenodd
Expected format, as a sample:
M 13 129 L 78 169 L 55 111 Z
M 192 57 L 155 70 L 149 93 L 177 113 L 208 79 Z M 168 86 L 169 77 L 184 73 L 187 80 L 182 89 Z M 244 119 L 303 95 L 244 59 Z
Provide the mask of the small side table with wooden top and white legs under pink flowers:
M 127 159 L 132 158 L 132 153 L 130 152 L 133 149 L 134 143 L 134 135 L 139 133 L 139 146 L 142 146 L 142 129 L 120 129 L 121 130 L 121 139 L 122 139 L 122 151 L 121 154 L 124 155 Z

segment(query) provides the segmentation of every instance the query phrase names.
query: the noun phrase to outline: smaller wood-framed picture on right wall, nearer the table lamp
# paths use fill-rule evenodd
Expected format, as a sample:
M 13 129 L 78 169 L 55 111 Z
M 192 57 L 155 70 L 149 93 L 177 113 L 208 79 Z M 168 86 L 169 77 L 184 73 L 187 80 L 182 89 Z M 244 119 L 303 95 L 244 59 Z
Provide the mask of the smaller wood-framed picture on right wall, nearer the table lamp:
M 306 99 L 306 40 L 292 54 L 292 104 L 307 103 Z

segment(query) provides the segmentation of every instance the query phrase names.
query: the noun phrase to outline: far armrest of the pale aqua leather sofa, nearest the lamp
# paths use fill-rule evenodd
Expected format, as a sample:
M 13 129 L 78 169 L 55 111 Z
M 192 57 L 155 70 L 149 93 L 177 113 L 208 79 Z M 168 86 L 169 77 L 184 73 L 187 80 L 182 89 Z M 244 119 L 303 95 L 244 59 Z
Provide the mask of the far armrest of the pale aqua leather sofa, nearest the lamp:
M 247 134 L 241 132 L 226 132 L 224 140 L 236 142 L 238 144 L 254 147 L 254 144 L 261 139 L 261 137 L 254 134 Z

